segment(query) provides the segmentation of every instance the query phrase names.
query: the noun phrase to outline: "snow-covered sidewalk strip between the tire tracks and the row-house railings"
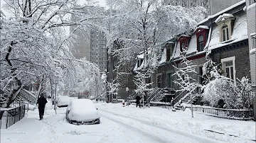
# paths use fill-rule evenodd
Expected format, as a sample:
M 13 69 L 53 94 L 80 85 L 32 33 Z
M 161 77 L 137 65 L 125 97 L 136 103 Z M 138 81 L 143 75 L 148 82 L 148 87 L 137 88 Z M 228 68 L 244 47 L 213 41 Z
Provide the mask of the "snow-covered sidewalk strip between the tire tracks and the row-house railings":
M 117 117 L 127 117 L 165 127 L 166 129 L 186 132 L 198 137 L 206 137 L 220 142 L 253 142 L 255 140 L 255 122 L 214 118 L 191 111 L 172 112 L 164 108 L 136 108 L 134 105 L 122 107 L 121 103 L 96 103 L 103 113 L 107 111 Z M 213 131 L 213 132 L 210 132 Z M 216 133 L 218 132 L 218 133 Z

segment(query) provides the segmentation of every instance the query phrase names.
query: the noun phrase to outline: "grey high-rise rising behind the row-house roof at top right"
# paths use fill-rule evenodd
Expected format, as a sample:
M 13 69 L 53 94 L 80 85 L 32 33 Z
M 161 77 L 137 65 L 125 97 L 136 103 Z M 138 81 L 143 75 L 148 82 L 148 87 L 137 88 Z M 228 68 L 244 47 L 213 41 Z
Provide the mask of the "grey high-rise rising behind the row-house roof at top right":
M 196 6 L 203 6 L 207 9 L 208 15 L 213 15 L 222 11 L 233 4 L 238 3 L 241 0 L 164 0 L 164 5 L 183 6 L 186 8 L 192 8 Z

